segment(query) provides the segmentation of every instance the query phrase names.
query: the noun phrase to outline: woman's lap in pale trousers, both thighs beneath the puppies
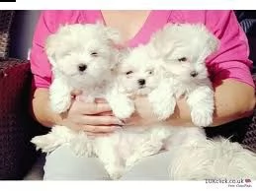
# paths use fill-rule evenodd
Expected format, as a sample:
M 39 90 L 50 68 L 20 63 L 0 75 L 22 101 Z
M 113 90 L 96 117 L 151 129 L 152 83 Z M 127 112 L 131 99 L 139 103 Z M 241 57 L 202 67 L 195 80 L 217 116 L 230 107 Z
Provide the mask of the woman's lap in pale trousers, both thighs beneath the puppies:
M 167 180 L 170 153 L 141 159 L 121 180 Z M 67 146 L 46 156 L 44 180 L 109 180 L 108 173 L 96 158 L 78 158 Z

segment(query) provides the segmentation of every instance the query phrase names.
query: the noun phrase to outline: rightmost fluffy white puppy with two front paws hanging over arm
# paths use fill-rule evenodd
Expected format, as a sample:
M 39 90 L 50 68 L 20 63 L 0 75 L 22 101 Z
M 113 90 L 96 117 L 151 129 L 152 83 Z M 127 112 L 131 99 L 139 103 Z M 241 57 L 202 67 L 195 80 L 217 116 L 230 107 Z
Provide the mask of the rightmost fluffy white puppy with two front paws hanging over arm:
M 213 88 L 209 79 L 206 58 L 218 47 L 218 39 L 204 25 L 172 24 L 156 32 L 150 41 L 152 55 L 163 59 L 167 81 L 159 86 L 155 95 L 155 111 L 168 117 L 173 113 L 175 100 L 186 96 L 196 126 L 208 126 L 213 122 Z M 169 87 L 169 88 L 168 88 Z M 165 94 L 168 90 L 168 94 Z M 169 98 L 172 95 L 172 99 Z M 163 101 L 164 100 L 164 101 Z M 168 103 L 169 101 L 169 103 Z M 162 109 L 172 105 L 170 110 Z

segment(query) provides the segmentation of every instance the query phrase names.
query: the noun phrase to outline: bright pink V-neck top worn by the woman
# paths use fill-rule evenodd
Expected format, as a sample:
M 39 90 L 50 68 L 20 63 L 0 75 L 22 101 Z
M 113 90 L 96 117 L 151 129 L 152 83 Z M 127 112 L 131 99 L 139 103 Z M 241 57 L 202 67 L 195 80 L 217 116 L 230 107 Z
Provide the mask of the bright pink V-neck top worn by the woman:
M 48 88 L 51 83 L 50 64 L 43 51 L 47 35 L 63 24 L 104 22 L 101 11 L 44 11 L 33 39 L 31 67 L 37 88 Z M 167 23 L 203 23 L 220 39 L 220 48 L 208 59 L 214 84 L 223 79 L 235 79 L 254 87 L 248 59 L 249 48 L 245 33 L 232 11 L 151 11 L 142 28 L 128 40 L 129 47 L 146 43 L 152 32 Z

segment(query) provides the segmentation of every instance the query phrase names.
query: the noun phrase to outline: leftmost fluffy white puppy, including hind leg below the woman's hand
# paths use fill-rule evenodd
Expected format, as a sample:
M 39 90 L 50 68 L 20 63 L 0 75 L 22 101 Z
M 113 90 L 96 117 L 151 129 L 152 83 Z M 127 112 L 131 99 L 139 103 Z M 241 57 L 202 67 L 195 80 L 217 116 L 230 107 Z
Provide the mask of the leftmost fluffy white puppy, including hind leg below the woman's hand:
M 71 92 L 83 91 L 79 96 L 83 101 L 93 102 L 96 97 L 106 97 L 109 102 L 117 104 L 114 113 L 125 118 L 133 108 L 124 103 L 121 94 L 115 94 L 115 67 L 119 62 L 120 33 L 101 24 L 66 25 L 48 36 L 45 42 L 45 53 L 51 64 L 53 81 L 49 88 L 50 107 L 57 113 L 66 111 L 71 104 Z M 113 100 L 112 100 L 113 99 Z M 115 102 L 115 103 L 116 103 Z M 120 107 L 124 112 L 120 112 Z M 126 110 L 126 108 L 130 110 Z M 80 140 L 83 144 L 79 144 Z M 37 149 L 48 153 L 66 143 L 78 155 L 92 155 L 91 141 L 84 132 L 73 131 L 67 127 L 54 126 L 47 135 L 32 139 Z M 84 147 L 81 148 L 80 146 Z

